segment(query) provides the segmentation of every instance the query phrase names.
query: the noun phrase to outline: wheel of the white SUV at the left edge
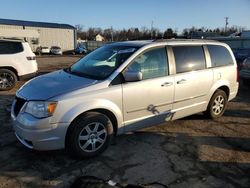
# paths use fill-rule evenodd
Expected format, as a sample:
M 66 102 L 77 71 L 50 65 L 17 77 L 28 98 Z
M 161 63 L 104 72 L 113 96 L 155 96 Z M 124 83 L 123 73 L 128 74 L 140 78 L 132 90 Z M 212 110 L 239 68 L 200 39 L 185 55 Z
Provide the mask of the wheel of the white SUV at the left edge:
M 16 74 L 8 69 L 0 69 L 0 91 L 11 90 L 17 82 Z

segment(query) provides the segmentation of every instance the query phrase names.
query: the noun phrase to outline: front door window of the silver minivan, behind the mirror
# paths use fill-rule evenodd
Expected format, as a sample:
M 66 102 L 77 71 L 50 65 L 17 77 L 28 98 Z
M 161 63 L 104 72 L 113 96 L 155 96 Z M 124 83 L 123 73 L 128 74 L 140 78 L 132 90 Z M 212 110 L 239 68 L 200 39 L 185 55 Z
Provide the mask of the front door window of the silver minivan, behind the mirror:
M 168 75 L 166 48 L 152 49 L 140 54 L 133 60 L 127 70 L 140 71 L 143 80 Z

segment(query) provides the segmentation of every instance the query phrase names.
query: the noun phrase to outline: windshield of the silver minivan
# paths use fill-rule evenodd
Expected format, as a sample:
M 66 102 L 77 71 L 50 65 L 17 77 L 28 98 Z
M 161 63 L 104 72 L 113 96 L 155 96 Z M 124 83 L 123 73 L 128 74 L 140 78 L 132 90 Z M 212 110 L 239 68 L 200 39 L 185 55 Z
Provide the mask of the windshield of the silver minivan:
M 106 45 L 83 57 L 67 70 L 79 76 L 103 80 L 110 76 L 137 49 L 131 46 Z

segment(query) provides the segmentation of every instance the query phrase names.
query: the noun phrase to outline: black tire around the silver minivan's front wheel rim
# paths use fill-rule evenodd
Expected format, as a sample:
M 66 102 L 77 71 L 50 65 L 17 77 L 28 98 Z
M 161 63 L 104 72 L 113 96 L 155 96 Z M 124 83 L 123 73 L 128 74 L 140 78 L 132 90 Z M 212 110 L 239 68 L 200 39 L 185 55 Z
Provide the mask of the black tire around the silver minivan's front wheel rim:
M 100 122 L 105 126 L 107 138 L 105 143 L 97 151 L 85 152 L 79 146 L 78 136 L 82 129 L 92 122 Z M 85 115 L 80 116 L 76 121 L 73 122 L 71 126 L 73 126 L 73 129 L 69 135 L 69 143 L 67 144 L 67 147 L 69 148 L 67 148 L 67 150 L 71 155 L 80 158 L 89 158 L 100 154 L 108 147 L 113 136 L 113 125 L 111 120 L 106 115 L 98 112 L 88 112 Z

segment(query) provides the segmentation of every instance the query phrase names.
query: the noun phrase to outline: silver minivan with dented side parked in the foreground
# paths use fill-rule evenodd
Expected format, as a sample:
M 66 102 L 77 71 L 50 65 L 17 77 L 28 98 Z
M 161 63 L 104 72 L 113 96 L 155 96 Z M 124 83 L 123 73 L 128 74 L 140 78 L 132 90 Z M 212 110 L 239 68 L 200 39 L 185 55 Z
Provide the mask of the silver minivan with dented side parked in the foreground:
M 15 134 L 31 149 L 95 156 L 125 132 L 199 112 L 219 118 L 237 94 L 237 75 L 230 47 L 220 42 L 104 45 L 19 89 Z

